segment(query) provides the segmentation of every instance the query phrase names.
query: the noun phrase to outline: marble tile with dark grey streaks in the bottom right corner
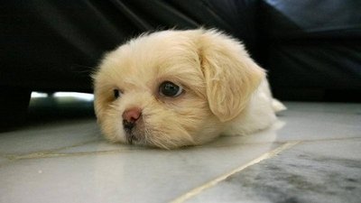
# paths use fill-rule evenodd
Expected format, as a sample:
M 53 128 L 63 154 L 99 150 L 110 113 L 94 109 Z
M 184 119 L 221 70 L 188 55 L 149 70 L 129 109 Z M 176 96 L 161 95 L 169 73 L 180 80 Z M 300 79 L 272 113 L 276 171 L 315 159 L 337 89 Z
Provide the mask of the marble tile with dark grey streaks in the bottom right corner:
M 361 139 L 302 143 L 187 202 L 359 202 Z

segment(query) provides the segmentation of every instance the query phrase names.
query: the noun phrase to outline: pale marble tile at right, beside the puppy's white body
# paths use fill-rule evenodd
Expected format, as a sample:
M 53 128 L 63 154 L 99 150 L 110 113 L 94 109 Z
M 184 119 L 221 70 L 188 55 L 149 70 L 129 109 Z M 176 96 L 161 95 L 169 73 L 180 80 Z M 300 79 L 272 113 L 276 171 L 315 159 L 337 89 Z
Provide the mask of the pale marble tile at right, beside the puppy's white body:
M 269 128 L 245 136 L 221 137 L 217 144 L 284 143 L 361 137 L 361 105 L 285 103 L 278 121 Z M 315 107 L 316 106 L 316 107 Z M 337 113 L 334 107 L 344 108 L 347 114 Z M 315 109 L 321 109 L 316 111 Z M 354 114 L 351 112 L 354 111 Z

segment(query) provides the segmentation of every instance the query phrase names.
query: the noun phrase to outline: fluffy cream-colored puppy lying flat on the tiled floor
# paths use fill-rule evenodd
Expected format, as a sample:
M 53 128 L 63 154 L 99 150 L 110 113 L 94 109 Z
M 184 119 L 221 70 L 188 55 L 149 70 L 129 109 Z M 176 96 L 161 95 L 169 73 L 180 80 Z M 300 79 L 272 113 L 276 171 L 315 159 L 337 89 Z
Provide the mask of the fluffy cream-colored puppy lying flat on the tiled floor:
M 94 74 L 98 124 L 113 142 L 165 149 L 272 125 L 264 69 L 216 30 L 143 34 L 106 54 Z

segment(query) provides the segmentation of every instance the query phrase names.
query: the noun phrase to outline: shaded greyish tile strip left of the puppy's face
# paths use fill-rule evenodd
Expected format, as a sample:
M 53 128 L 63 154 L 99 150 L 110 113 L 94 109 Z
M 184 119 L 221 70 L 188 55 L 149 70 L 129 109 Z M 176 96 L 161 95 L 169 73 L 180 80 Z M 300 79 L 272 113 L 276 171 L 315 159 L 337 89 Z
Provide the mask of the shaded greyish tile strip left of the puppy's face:
M 63 121 L 0 134 L 0 153 L 23 154 L 59 149 L 100 139 L 94 118 Z

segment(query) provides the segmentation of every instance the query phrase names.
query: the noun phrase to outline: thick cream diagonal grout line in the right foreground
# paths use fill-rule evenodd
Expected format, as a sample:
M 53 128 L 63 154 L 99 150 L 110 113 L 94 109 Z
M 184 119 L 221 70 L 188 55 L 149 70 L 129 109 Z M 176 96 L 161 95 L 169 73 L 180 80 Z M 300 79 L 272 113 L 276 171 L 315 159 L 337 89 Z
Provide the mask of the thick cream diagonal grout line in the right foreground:
M 298 143 L 301 143 L 301 142 L 297 141 L 297 142 L 283 143 L 281 146 L 277 147 L 273 151 L 265 152 L 264 154 L 262 154 L 261 156 L 259 156 L 255 160 L 249 161 L 249 162 L 245 163 L 244 165 L 236 168 L 235 170 L 229 171 L 226 174 L 219 176 L 215 180 L 210 180 L 207 183 L 199 186 L 198 188 L 191 189 L 189 192 L 185 193 L 184 195 L 181 195 L 180 197 L 171 200 L 171 203 L 181 203 L 181 202 L 184 202 L 184 201 L 188 200 L 189 198 L 197 196 L 203 190 L 209 189 L 209 188 L 211 188 L 213 186 L 216 186 L 219 182 L 221 182 L 223 180 L 226 180 L 229 176 L 231 176 L 231 175 L 233 175 L 233 174 L 235 174 L 235 173 L 237 173 L 239 171 L 243 171 L 247 167 L 255 165 L 256 163 L 258 163 L 260 161 L 264 161 L 266 159 L 272 158 L 273 156 L 277 155 L 278 153 L 280 153 L 280 152 L 282 152 L 284 150 L 287 150 L 287 149 L 291 148 L 292 146 L 294 146 L 294 145 L 296 145 Z

